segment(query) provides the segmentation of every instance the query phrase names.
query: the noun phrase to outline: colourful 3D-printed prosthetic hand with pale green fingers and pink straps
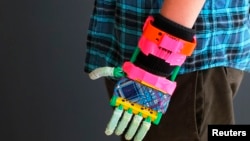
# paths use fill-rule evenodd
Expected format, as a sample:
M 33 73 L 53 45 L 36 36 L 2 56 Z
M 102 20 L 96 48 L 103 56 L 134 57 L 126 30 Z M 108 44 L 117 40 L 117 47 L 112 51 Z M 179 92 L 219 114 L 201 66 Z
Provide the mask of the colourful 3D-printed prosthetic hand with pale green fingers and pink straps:
M 126 132 L 127 140 L 143 140 L 151 123 L 160 123 L 176 88 L 180 66 L 196 46 L 195 37 L 191 42 L 177 38 L 156 28 L 153 22 L 149 16 L 130 61 L 122 67 L 97 68 L 89 74 L 91 79 L 119 78 L 110 100 L 115 108 L 105 131 L 107 135 Z

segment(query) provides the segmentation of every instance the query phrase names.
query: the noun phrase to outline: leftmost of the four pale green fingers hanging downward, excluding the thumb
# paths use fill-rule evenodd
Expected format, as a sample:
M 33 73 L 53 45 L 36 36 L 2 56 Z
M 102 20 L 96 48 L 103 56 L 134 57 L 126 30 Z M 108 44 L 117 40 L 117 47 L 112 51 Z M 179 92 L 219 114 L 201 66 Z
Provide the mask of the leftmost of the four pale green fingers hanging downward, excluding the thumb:
M 115 108 L 115 110 L 113 112 L 113 115 L 112 115 L 112 117 L 111 117 L 111 119 L 110 119 L 110 121 L 109 121 L 109 123 L 107 125 L 107 128 L 105 130 L 106 135 L 113 134 L 122 113 L 123 113 L 123 107 L 122 106 L 118 106 L 118 107 Z

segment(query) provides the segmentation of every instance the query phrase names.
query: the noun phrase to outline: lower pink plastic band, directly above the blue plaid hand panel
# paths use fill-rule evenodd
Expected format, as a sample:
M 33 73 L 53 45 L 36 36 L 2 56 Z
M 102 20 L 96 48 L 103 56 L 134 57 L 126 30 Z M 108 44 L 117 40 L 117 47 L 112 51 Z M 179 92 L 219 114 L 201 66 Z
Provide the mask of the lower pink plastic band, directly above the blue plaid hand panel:
M 176 82 L 170 81 L 165 77 L 151 74 L 135 66 L 131 62 L 125 62 L 122 68 L 128 78 L 139 81 L 140 83 L 146 83 L 148 86 L 152 86 L 152 88 L 160 90 L 164 93 L 172 95 L 176 88 Z

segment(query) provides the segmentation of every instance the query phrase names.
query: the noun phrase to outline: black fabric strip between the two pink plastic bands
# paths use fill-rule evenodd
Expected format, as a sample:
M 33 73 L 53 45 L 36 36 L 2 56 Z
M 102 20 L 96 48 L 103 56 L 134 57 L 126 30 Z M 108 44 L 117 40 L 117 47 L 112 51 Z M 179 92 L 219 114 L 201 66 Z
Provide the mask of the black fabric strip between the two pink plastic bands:
M 149 54 L 146 56 L 140 52 L 134 62 L 134 64 L 147 72 L 162 77 L 169 77 L 176 66 L 170 66 L 165 60 Z

